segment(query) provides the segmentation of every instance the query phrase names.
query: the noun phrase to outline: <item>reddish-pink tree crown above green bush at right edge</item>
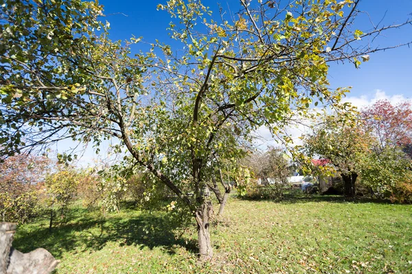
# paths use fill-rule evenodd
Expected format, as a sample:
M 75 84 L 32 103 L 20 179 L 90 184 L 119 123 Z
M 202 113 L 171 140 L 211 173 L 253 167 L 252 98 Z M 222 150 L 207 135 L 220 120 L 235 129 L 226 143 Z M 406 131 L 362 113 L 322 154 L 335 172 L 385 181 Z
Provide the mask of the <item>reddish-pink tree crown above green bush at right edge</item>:
M 403 101 L 392 105 L 388 100 L 380 100 L 361 112 L 365 127 L 378 138 L 377 151 L 385 147 L 412 144 L 412 104 Z

